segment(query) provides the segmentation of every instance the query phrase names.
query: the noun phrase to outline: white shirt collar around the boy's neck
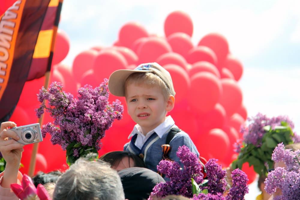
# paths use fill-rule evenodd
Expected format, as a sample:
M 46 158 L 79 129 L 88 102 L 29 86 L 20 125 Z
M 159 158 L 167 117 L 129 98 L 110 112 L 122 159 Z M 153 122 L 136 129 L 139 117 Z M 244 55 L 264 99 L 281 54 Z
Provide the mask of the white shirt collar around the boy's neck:
M 161 124 L 159 124 L 155 129 L 149 131 L 149 133 L 156 133 L 160 138 L 166 133 L 167 130 L 169 130 L 173 125 L 175 124 L 173 118 L 169 115 L 166 117 L 165 121 Z M 149 134 L 147 133 L 147 134 Z M 128 139 L 131 138 L 131 136 L 134 136 L 135 134 L 142 134 L 142 129 L 139 124 L 136 124 L 134 126 L 134 129 L 129 134 Z

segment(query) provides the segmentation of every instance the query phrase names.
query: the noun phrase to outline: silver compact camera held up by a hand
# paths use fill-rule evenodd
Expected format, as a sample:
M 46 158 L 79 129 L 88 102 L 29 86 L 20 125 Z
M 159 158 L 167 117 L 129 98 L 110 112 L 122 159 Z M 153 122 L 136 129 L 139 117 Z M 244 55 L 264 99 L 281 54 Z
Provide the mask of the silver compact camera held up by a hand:
M 43 141 L 39 123 L 14 127 L 9 130 L 14 131 L 20 137 L 20 139 L 17 142 L 23 145 L 28 145 L 28 144 Z

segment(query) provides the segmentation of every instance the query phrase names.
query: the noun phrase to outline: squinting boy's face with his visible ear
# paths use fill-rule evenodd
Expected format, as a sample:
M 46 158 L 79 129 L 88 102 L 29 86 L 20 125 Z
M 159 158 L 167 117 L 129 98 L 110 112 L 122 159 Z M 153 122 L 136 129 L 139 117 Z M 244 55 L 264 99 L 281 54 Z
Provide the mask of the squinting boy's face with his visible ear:
M 128 114 L 140 125 L 144 135 L 165 121 L 167 112 L 174 106 L 174 97 L 170 98 L 165 100 L 159 87 L 136 84 L 126 87 Z

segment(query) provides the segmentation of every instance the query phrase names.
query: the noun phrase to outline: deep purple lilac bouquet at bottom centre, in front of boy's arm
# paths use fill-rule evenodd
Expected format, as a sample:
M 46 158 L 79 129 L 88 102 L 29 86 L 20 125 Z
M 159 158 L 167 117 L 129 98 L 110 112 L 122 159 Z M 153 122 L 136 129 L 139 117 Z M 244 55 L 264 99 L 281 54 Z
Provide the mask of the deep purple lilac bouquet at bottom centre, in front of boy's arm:
M 177 162 L 162 160 L 157 169 L 170 178 L 166 183 L 159 183 L 154 188 L 148 200 L 155 197 L 165 197 L 170 194 L 182 195 L 194 200 L 200 199 L 243 199 L 248 192 L 247 175 L 239 169 L 232 172 L 233 187 L 227 196 L 226 171 L 222 170 L 216 159 L 210 159 L 205 164 L 207 179 L 203 179 L 201 164 L 196 154 L 189 148 L 178 148 L 177 156 L 183 164 L 182 169 Z M 242 198 L 241 198 L 242 196 Z

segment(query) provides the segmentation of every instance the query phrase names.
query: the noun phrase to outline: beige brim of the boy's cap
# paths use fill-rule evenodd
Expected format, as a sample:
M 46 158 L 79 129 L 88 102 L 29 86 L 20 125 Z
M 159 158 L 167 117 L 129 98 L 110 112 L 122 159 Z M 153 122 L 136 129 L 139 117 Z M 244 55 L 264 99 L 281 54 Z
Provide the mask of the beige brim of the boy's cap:
M 118 97 L 125 97 L 125 81 L 132 73 L 152 72 L 152 70 L 116 70 L 108 80 L 108 89 L 111 94 Z

